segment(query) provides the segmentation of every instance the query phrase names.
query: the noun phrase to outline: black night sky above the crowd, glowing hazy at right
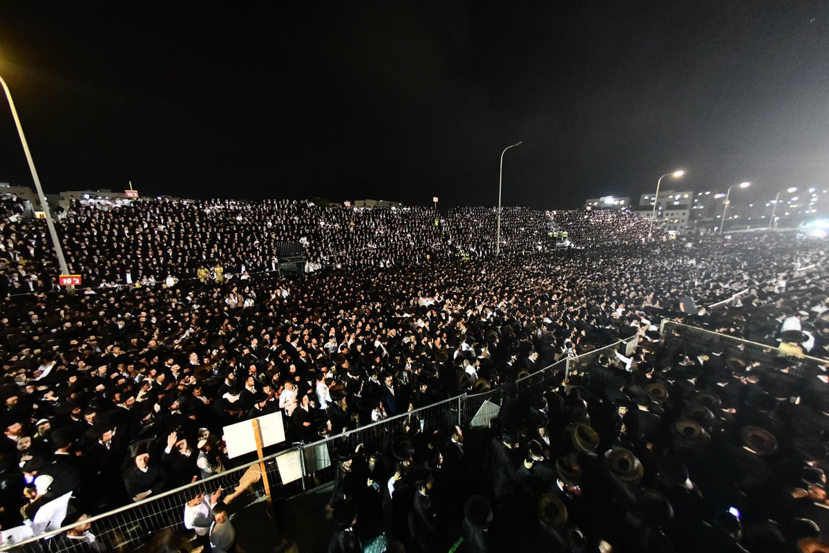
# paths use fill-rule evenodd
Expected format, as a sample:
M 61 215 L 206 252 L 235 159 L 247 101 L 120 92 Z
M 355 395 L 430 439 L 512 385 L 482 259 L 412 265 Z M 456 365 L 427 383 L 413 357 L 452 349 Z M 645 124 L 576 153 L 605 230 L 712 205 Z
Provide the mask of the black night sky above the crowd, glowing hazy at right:
M 518 140 L 505 205 L 829 180 L 827 0 L 214 3 L 0 2 L 46 192 L 492 206 Z

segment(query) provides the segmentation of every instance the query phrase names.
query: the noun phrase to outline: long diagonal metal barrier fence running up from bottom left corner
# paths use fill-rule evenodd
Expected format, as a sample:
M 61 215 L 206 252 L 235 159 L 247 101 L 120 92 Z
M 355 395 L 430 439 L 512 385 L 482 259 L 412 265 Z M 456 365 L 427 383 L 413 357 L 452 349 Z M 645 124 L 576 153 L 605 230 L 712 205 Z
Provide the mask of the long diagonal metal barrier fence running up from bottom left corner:
M 622 343 L 624 342 L 615 342 L 582 356 L 558 361 L 516 381 L 517 390 L 519 393 L 543 390 L 547 383 L 560 378 L 562 372 L 566 374 L 568 366 L 571 369 L 589 366 L 603 353 L 612 355 Z M 363 444 L 364 451 L 385 450 L 390 441 L 400 434 L 431 434 L 439 429 L 452 428 L 455 424 L 461 427 L 487 425 L 492 416 L 497 415 L 505 394 L 504 388 L 499 387 L 480 394 L 458 395 L 313 444 L 303 444 L 268 455 L 261 462 L 264 463 L 268 475 L 271 496 L 292 497 L 304 490 L 333 482 L 337 467 L 334 454 L 337 445 L 342 442 L 347 442 L 353 447 Z M 245 486 L 240 486 L 240 483 L 245 483 Z M 260 478 L 259 460 L 230 468 L 224 473 L 164 492 L 157 497 L 148 497 L 143 501 L 90 517 L 86 522 L 91 525 L 91 534 L 95 535 L 96 541 L 103 546 L 102 551 L 125 553 L 145 543 L 148 536 L 157 531 L 181 528 L 185 504 L 197 492 L 209 495 L 220 486 L 231 493 L 239 488 L 239 497 L 235 497 L 233 502 L 252 502 L 264 498 L 265 490 Z M 0 551 L 75 551 L 80 540 L 67 536 L 73 527 L 74 523 L 17 543 L 9 541 L 0 545 Z

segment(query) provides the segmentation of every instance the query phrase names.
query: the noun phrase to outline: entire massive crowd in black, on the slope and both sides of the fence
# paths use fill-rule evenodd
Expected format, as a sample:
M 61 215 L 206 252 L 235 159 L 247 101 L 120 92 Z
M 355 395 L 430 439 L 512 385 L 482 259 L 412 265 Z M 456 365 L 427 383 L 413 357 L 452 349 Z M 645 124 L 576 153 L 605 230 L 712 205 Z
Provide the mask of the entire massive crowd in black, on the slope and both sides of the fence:
M 680 318 L 829 357 L 824 242 L 761 234 L 651 243 L 647 226 L 625 214 L 550 219 L 516 209 L 502 219 L 508 247 L 494 258 L 485 209 L 440 217 L 293 201 L 139 201 L 66 214 L 70 264 L 95 284 L 70 296 L 50 291 L 55 262 L 43 226 L 14 216 L 10 198 L 2 206 L 3 274 L 11 291 L 31 290 L 10 295 L 0 315 L 2 528 L 26 518 L 45 531 L 219 473 L 232 464 L 221 429 L 235 421 L 280 410 L 286 444 L 308 443 L 463 392 L 508 389 L 562 357 L 637 336 L 633 357 L 605 358 L 543 396 L 511 397 L 478 446 L 474 432 L 464 446 L 463 429 L 450 424 L 425 433 L 412 425 L 410 439 L 390 447 L 338 451 L 332 551 L 356 551 L 348 548 L 357 538 L 380 531 L 412 551 L 448 549 L 458 532 L 468 551 L 497 551 L 517 527 L 543 551 L 594 551 L 599 541 L 614 551 L 671 551 L 665 540 L 689 551 L 689 536 L 709 536 L 694 526 L 705 521 L 711 539 L 741 551 L 728 507 L 744 521 L 776 517 L 784 540 L 809 532 L 783 527 L 776 510 L 773 493 L 792 482 L 763 479 L 774 492 L 742 485 L 734 464 L 744 454 L 731 446 L 758 435 L 768 442 L 744 431 L 765 429 L 779 442 L 778 454 L 758 454 L 766 468 L 797 478 L 822 468 L 826 452 L 815 444 L 819 458 L 797 464 L 783 429 L 807 409 L 809 428 L 824 428 L 827 379 L 817 375 L 784 398 L 802 401 L 784 405 L 774 399 L 779 379 L 767 373 L 786 366 L 667 347 L 657 329 Z M 544 240 L 554 229 L 589 247 L 554 251 Z M 274 241 L 300 242 L 329 268 L 280 279 Z M 107 282 L 132 285 L 100 286 Z M 725 309 L 706 309 L 743 291 Z M 709 442 L 694 442 L 705 435 Z M 760 444 L 749 446 L 757 454 Z M 723 451 L 737 460 L 712 477 Z M 807 495 L 792 501 L 822 502 L 820 474 L 808 473 Z M 672 526 L 663 499 L 676 511 Z M 811 504 L 796 507 L 820 518 Z M 767 526 L 762 536 L 774 534 Z M 777 543 L 756 536 L 749 551 Z

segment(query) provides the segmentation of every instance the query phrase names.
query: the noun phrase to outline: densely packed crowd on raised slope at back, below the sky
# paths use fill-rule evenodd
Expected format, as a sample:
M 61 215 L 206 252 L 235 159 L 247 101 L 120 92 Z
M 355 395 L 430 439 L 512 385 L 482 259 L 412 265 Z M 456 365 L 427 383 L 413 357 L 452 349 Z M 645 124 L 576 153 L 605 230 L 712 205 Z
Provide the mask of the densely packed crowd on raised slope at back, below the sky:
M 45 221 L 10 218 L 12 208 L 20 206 L 10 197 L 0 199 L 0 206 L 6 213 L 0 218 L 0 258 L 5 261 L 0 295 L 56 289 L 59 271 Z M 457 208 L 442 216 L 419 206 L 165 198 L 76 201 L 56 226 L 70 272 L 97 288 L 155 285 L 216 267 L 228 277 L 273 271 L 279 245 L 286 242 L 302 245 L 308 270 L 479 259 L 495 252 L 496 215 L 484 207 Z M 570 230 L 570 240 L 579 245 L 643 240 L 647 229 L 629 219 L 616 211 L 560 211 L 551 217 L 526 207 L 504 207 L 501 249 L 554 249 L 550 235 L 559 227 Z

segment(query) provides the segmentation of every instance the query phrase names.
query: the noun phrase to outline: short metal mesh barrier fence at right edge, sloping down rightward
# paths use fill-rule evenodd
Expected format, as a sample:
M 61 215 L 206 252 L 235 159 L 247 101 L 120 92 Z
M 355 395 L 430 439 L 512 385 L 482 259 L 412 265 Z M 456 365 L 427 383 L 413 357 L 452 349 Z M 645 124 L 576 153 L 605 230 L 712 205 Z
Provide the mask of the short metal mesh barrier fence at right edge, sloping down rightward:
M 751 342 L 705 330 L 704 328 L 690 327 L 674 321 L 662 322 L 662 340 L 669 351 L 675 350 L 689 356 L 696 356 L 702 352 L 722 352 L 723 357 L 739 358 L 750 363 L 758 362 L 764 368 L 786 365 L 789 372 L 795 376 L 807 376 L 820 371 L 817 367 L 826 366 L 829 360 L 806 355 L 786 355 L 779 347 Z

